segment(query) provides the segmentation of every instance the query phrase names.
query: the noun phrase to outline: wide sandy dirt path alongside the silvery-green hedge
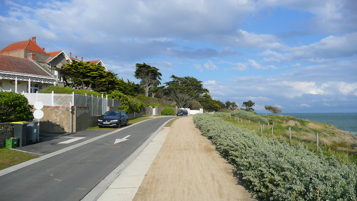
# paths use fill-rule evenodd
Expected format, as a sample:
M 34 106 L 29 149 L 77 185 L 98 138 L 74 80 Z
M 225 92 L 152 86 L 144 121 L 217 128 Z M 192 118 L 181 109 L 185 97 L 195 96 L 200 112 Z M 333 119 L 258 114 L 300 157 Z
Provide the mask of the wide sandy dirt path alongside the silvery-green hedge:
M 160 152 L 144 177 L 134 201 L 250 201 L 237 185 L 233 167 L 195 128 L 192 117 L 172 124 Z

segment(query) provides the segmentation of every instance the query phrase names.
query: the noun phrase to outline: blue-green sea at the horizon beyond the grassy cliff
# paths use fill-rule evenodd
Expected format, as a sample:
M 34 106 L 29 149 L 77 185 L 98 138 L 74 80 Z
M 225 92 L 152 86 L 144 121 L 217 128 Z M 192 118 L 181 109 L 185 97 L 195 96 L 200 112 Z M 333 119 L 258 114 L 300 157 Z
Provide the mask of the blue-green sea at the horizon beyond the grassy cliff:
M 263 113 L 260 113 L 263 114 Z M 267 113 L 269 115 L 269 113 Z M 309 121 L 327 123 L 357 135 L 357 113 L 278 113 Z

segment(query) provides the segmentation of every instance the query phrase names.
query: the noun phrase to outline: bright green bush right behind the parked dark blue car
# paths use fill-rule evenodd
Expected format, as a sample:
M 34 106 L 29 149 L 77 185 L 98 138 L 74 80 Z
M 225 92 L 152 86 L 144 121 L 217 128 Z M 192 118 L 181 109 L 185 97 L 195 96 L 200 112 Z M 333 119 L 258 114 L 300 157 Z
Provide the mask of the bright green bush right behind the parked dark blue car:
M 135 100 L 134 98 L 129 98 L 129 96 L 119 92 L 114 91 L 108 95 L 108 98 L 119 100 L 118 110 L 122 110 L 125 113 L 141 112 L 144 105 Z

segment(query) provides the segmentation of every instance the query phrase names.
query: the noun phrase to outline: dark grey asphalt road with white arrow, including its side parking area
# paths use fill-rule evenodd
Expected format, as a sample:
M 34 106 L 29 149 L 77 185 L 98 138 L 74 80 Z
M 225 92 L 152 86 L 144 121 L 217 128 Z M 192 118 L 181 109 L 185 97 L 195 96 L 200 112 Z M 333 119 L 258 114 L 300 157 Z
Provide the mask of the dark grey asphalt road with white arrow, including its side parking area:
M 131 155 L 168 119 L 154 118 L 84 144 L 46 160 L 0 176 L 0 200 L 81 200 L 103 178 Z M 112 131 L 80 131 L 54 137 L 22 150 L 45 154 Z M 126 141 L 114 144 L 126 136 Z M 71 138 L 85 137 L 68 144 Z M 113 145 L 116 145 L 113 147 Z

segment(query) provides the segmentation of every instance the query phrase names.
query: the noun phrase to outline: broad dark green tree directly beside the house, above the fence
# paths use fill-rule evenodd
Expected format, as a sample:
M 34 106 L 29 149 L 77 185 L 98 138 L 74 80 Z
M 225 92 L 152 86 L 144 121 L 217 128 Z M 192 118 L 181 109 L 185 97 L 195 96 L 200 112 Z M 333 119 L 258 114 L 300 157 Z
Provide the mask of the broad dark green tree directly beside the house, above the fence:
M 96 92 L 108 92 L 116 88 L 118 74 L 107 71 L 101 65 L 74 60 L 52 69 L 61 75 L 65 87 L 92 89 Z

